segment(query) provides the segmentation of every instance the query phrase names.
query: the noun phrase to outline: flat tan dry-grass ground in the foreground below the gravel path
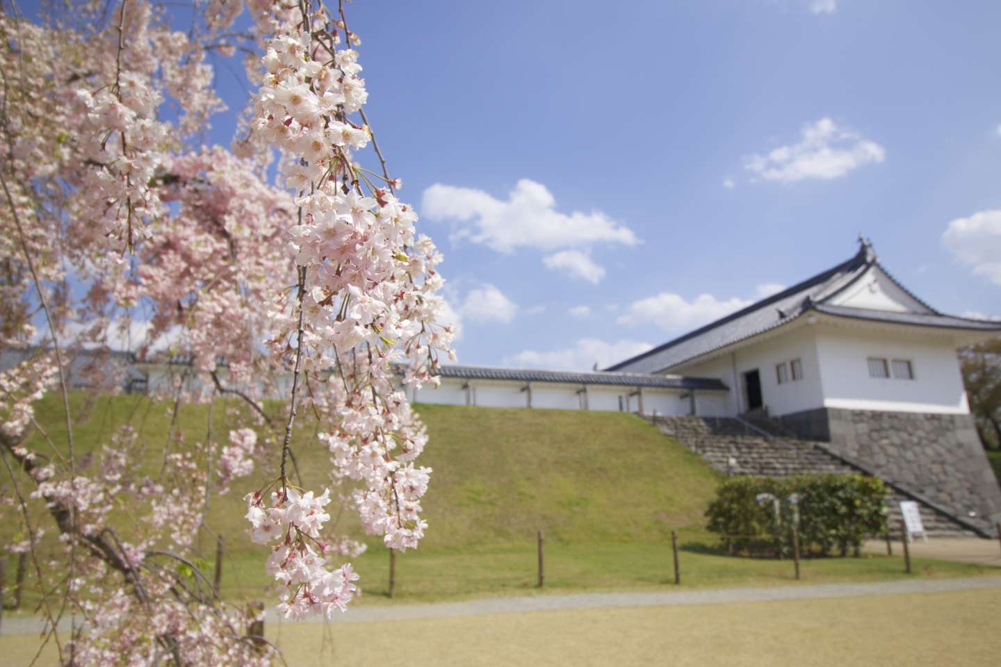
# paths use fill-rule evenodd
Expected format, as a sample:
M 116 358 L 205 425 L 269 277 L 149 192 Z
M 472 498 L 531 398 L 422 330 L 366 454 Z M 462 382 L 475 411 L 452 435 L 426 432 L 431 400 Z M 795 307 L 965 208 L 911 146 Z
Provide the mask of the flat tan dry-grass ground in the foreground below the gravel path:
M 442 667 L 981 667 L 1001 653 L 1001 592 L 963 591 L 456 616 L 375 623 L 271 624 L 287 664 Z M 28 664 L 35 637 L 0 637 Z M 47 650 L 39 665 L 55 664 Z M 8 664 L 5 662 L 5 664 Z

